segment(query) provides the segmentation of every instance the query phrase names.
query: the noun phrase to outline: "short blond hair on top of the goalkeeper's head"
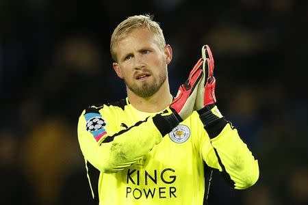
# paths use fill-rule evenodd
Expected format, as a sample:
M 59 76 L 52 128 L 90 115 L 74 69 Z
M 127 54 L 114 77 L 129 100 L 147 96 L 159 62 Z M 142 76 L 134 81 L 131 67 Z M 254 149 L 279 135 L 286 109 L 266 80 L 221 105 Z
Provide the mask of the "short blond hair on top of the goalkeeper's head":
M 153 16 L 149 14 L 129 16 L 123 20 L 112 33 L 112 38 L 110 40 L 110 53 L 114 61 L 117 61 L 115 49 L 118 41 L 125 38 L 127 34 L 136 28 L 148 29 L 153 33 L 159 47 L 163 49 L 164 46 L 166 46 L 166 40 L 164 38 L 163 31 L 159 26 L 159 23 L 153 20 Z

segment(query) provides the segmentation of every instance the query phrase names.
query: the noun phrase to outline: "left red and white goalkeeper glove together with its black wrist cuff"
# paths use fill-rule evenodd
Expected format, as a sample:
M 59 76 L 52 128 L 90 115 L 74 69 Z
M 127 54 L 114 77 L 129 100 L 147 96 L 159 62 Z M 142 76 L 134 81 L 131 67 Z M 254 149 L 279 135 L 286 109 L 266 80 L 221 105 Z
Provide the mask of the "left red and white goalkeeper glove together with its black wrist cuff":
M 179 122 L 188 118 L 194 111 L 198 85 L 203 77 L 202 63 L 203 59 L 199 59 L 188 79 L 179 87 L 177 96 L 168 108 L 153 117 L 153 122 L 162 136 L 172 131 Z

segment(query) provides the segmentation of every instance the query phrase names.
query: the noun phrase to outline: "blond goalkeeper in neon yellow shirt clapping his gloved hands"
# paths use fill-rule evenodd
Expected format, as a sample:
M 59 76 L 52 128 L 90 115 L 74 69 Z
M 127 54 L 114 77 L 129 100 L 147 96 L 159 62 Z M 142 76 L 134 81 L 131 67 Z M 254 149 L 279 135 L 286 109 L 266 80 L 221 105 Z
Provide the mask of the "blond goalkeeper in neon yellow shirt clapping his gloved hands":
M 86 165 L 100 171 L 100 204 L 203 204 L 213 170 L 235 189 L 255 184 L 257 160 L 216 106 L 209 46 L 175 97 L 172 48 L 151 16 L 123 20 L 110 50 L 127 98 L 90 106 L 78 122 Z

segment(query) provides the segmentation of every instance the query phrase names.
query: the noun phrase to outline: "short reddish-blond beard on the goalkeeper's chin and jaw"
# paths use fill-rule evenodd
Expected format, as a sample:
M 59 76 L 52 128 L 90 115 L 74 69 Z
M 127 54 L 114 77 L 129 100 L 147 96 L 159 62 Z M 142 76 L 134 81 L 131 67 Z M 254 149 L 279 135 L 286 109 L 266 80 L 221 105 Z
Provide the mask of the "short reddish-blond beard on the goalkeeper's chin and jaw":
M 131 92 L 141 98 L 149 98 L 150 96 L 153 96 L 153 94 L 155 94 L 160 87 L 162 87 L 167 79 L 167 72 L 165 71 L 159 74 L 158 79 L 153 75 L 151 75 L 151 77 L 153 78 L 153 81 L 151 82 L 145 81 L 141 83 L 128 83 L 126 79 L 124 79 L 124 81 L 125 85 L 129 88 L 129 90 L 131 90 Z

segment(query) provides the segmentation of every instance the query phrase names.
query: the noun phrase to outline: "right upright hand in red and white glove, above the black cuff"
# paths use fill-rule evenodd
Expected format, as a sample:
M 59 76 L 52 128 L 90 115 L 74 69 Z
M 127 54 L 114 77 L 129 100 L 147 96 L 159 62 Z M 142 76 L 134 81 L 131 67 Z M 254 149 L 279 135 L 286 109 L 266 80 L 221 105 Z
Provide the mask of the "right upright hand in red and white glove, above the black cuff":
M 203 59 L 203 77 L 198 87 L 198 94 L 194 109 L 196 111 L 203 109 L 207 105 L 213 105 L 216 102 L 214 77 L 214 58 L 208 45 L 201 49 Z

